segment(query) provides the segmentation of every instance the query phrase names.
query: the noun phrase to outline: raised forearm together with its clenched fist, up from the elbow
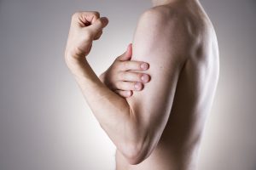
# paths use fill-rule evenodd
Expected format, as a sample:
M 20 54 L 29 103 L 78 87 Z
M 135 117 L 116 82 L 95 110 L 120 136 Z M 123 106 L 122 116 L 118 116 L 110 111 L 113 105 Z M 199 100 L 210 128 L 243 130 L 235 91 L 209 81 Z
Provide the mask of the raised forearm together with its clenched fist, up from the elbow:
M 137 154 L 137 120 L 126 99 L 104 85 L 86 59 L 93 40 L 101 37 L 102 29 L 107 25 L 108 20 L 100 18 L 96 12 L 73 14 L 65 60 L 97 121 L 130 161 Z M 125 55 L 131 55 L 131 49 L 127 51 Z

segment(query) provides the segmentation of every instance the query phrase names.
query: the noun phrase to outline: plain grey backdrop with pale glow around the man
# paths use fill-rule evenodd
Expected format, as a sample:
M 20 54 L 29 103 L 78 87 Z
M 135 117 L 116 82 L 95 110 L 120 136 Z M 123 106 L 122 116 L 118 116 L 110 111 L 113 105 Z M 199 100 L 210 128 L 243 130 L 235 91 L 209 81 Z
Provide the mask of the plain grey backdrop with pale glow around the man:
M 198 169 L 255 170 L 256 2 L 201 3 L 218 35 L 221 68 Z M 78 10 L 108 16 L 89 56 L 100 74 L 125 51 L 138 16 L 150 5 L 0 0 L 0 170 L 113 170 L 115 147 L 64 63 L 70 17 Z

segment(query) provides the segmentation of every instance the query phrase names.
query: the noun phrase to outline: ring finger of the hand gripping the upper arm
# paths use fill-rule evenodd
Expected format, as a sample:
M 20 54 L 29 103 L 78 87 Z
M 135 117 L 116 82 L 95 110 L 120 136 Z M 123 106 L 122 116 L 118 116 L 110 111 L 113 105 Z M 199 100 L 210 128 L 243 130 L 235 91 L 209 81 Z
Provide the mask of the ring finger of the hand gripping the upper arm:
M 143 89 L 143 83 L 142 82 L 116 82 L 115 88 L 118 90 L 136 90 L 140 91 Z

